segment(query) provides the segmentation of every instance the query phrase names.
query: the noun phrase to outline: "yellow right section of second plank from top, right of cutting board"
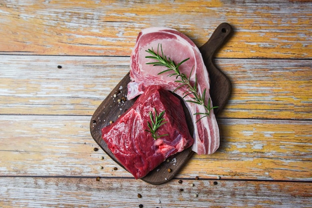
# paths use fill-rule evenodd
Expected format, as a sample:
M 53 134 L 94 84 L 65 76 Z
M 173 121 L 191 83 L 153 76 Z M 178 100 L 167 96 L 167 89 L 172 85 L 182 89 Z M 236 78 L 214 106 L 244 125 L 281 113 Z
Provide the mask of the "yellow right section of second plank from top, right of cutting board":
M 232 83 L 220 117 L 311 119 L 311 60 L 217 59 Z

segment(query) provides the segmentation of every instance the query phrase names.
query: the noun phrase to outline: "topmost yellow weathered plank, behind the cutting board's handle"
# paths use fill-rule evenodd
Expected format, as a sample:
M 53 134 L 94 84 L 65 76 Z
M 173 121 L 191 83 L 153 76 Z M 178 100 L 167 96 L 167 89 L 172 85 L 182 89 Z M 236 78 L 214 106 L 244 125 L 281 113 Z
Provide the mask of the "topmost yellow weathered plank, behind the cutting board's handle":
M 217 57 L 312 58 L 312 2 L 0 2 L 2 54 L 129 56 L 141 29 L 167 26 L 204 44 L 222 22 L 235 28 Z

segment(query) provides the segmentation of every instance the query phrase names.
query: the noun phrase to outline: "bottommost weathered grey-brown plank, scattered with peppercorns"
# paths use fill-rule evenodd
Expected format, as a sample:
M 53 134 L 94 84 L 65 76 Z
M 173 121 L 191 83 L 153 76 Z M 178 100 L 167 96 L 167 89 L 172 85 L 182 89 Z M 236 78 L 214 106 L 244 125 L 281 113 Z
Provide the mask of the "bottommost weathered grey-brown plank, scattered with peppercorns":
M 281 207 L 312 206 L 312 184 L 178 180 L 153 186 L 130 179 L 0 178 L 1 207 Z M 194 186 L 190 186 L 194 184 Z M 183 189 L 181 191 L 180 189 Z M 138 194 L 142 198 L 138 198 Z M 196 195 L 196 196 L 195 196 Z

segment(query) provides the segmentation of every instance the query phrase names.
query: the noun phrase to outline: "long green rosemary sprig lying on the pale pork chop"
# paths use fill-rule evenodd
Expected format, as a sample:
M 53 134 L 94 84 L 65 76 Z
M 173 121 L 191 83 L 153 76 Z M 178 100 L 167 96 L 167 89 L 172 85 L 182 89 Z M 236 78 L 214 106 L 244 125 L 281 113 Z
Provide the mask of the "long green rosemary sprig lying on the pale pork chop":
M 145 58 L 151 58 L 151 59 L 156 60 L 156 62 L 147 63 L 147 64 L 153 64 L 153 66 L 164 66 L 167 68 L 166 70 L 159 72 L 158 75 L 165 73 L 165 72 L 172 72 L 171 74 L 168 75 L 169 77 L 175 76 L 175 79 L 180 78 L 180 80 L 175 80 L 175 82 L 180 83 L 181 85 L 178 86 L 176 89 L 174 89 L 173 92 L 175 92 L 177 89 L 179 89 L 183 86 L 186 86 L 187 90 L 183 93 L 183 99 L 189 95 L 192 95 L 192 97 L 191 97 L 192 100 L 186 100 L 186 102 L 191 102 L 191 103 L 203 105 L 205 107 L 206 112 L 194 113 L 194 115 L 202 115 L 202 117 L 200 117 L 196 122 L 198 122 L 200 119 L 202 119 L 206 116 L 209 116 L 210 110 L 218 107 L 218 106 L 213 106 L 213 107 L 210 106 L 210 98 L 208 100 L 208 103 L 205 104 L 206 89 L 204 89 L 202 95 L 198 94 L 198 92 L 197 92 L 197 76 L 196 75 L 195 75 L 195 83 L 193 85 L 191 84 L 190 78 L 191 78 L 194 67 L 191 69 L 191 72 L 190 72 L 188 77 L 185 74 L 180 72 L 179 66 L 181 64 L 183 64 L 185 61 L 189 60 L 189 58 L 184 59 L 183 61 L 181 61 L 178 64 L 175 64 L 173 60 L 171 60 L 170 58 L 167 58 L 163 54 L 161 44 L 160 44 L 161 55 L 159 54 L 159 44 L 157 46 L 157 53 L 154 51 L 153 47 L 152 47 L 152 49 L 146 50 L 146 52 L 148 52 L 152 56 L 146 56 Z

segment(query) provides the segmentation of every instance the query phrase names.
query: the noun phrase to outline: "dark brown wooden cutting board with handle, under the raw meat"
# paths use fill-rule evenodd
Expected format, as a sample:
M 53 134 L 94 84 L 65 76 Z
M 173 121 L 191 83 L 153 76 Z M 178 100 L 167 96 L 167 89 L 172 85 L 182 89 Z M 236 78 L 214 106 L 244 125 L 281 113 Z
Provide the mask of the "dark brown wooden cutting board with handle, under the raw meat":
M 209 40 L 199 48 L 209 72 L 210 96 L 212 103 L 214 106 L 219 106 L 218 108 L 214 109 L 214 113 L 216 115 L 227 103 L 231 92 L 231 84 L 229 79 L 214 65 L 212 59 L 215 52 L 226 41 L 231 33 L 231 25 L 228 23 L 222 23 L 215 29 Z M 128 93 L 127 86 L 129 82 L 130 76 L 128 73 L 95 110 L 90 122 L 90 131 L 93 139 L 121 167 L 123 166 L 115 158 L 113 153 L 108 148 L 106 142 L 102 139 L 101 129 L 104 126 L 109 125 L 110 121 L 115 121 L 119 115 L 123 114 L 134 104 L 135 99 L 130 101 L 126 99 L 126 95 Z M 118 102 L 119 100 L 121 102 Z M 193 126 L 186 107 L 184 107 L 184 111 L 191 132 L 193 131 Z M 179 172 L 179 170 L 188 161 L 192 154 L 193 151 L 191 148 L 188 148 L 169 157 L 166 161 L 151 171 L 147 176 L 142 178 L 142 180 L 154 185 L 168 182 Z M 171 172 L 169 172 L 168 169 L 171 169 Z

